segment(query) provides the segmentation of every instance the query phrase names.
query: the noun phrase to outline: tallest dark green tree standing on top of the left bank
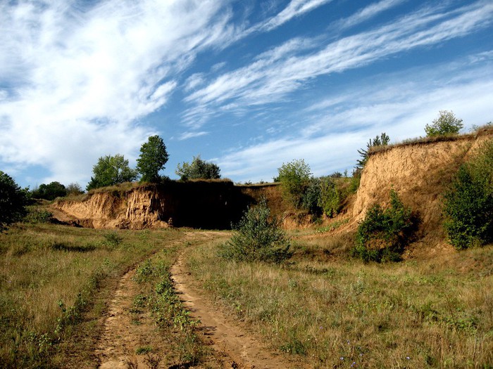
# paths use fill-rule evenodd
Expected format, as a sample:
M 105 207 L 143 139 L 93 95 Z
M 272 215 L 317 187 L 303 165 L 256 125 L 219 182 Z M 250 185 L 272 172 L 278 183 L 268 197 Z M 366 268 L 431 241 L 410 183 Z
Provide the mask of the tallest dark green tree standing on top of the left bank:
M 159 171 L 164 169 L 168 162 L 168 152 L 163 138 L 150 136 L 146 143 L 140 148 L 140 156 L 137 159 L 137 171 L 142 176 L 141 182 L 159 182 L 161 177 Z

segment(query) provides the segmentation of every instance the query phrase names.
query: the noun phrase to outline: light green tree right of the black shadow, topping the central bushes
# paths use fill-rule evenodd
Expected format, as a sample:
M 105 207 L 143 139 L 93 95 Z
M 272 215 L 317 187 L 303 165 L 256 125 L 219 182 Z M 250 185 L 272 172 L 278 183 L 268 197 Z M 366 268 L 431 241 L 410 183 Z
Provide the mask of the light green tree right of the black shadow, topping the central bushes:
M 277 168 L 282 193 L 295 207 L 300 207 L 311 179 L 311 171 L 303 159 L 293 160 Z

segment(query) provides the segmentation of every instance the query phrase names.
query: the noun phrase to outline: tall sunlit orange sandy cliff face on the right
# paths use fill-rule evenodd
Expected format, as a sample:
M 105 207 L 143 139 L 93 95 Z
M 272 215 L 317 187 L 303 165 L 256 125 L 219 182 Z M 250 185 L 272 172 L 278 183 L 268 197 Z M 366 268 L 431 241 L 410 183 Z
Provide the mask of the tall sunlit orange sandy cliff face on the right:
M 443 237 L 442 194 L 461 163 L 491 138 L 489 131 L 450 141 L 400 145 L 370 155 L 352 211 L 355 223 L 373 204 L 388 204 L 393 187 L 404 204 L 418 213 L 420 235 Z

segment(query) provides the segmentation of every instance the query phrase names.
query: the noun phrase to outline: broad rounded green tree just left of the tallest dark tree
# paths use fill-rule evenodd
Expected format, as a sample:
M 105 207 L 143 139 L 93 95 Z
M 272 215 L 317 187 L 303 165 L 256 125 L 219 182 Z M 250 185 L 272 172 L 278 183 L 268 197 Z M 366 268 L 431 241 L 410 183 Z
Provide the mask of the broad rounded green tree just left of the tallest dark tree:
M 98 163 L 92 167 L 94 176 L 87 184 L 87 190 L 93 188 L 114 186 L 123 182 L 131 182 L 137 179 L 137 171 L 130 169 L 128 160 L 120 154 L 106 155 L 98 159 Z

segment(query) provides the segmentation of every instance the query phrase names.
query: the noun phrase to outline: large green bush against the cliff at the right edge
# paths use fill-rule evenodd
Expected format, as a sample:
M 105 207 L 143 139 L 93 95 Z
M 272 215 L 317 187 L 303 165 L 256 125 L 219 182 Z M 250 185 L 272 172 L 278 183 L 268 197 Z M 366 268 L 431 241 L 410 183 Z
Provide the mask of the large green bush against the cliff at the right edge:
M 456 249 L 493 242 L 493 140 L 479 152 L 444 195 L 444 228 Z

